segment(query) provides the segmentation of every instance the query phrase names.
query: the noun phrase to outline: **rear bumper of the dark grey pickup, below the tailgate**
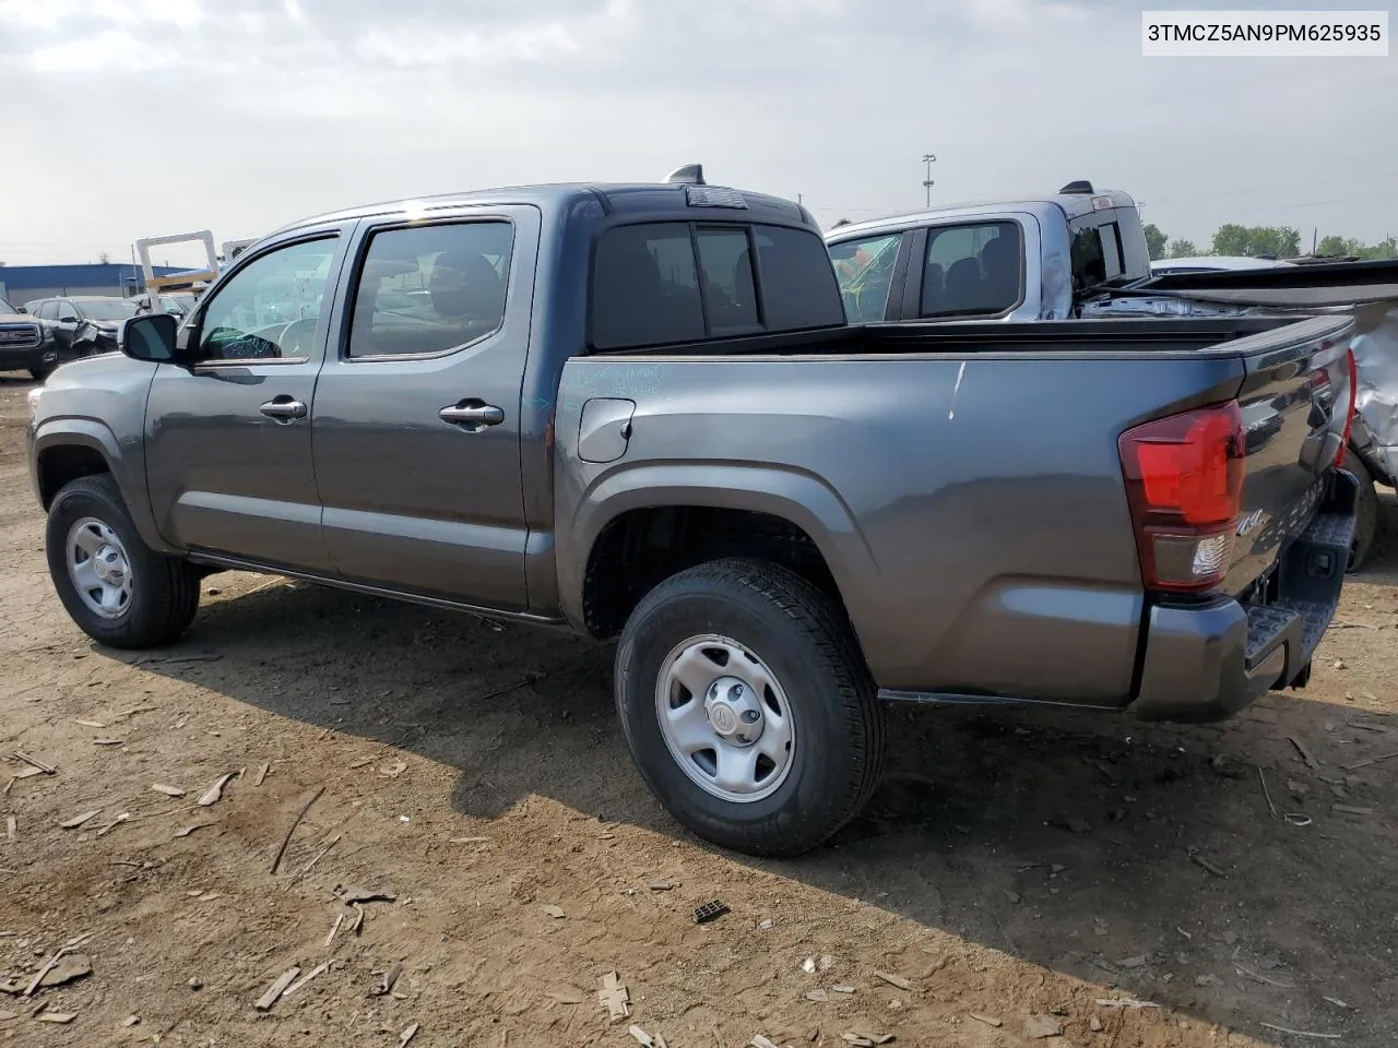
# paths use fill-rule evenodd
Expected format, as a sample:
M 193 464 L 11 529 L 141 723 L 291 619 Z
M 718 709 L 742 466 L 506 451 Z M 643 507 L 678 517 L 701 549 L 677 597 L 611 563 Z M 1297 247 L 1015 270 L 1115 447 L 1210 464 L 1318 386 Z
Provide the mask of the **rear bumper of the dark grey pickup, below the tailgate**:
M 1268 690 L 1303 686 L 1339 604 L 1357 490 L 1353 474 L 1332 471 L 1316 517 L 1278 560 L 1267 604 L 1219 597 L 1151 608 L 1141 687 L 1128 713 L 1220 721 Z

